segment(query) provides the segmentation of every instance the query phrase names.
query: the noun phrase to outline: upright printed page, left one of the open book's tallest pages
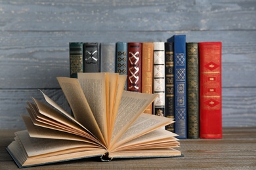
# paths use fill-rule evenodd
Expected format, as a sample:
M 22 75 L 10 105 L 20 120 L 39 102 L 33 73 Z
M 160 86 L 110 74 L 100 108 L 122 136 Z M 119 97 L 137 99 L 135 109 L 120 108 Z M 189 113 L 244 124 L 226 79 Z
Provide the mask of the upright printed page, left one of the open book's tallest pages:
M 81 89 L 85 94 L 95 120 L 102 132 L 104 139 L 107 139 L 107 93 L 106 93 L 106 73 L 77 73 Z M 109 90 L 109 89 L 108 89 Z

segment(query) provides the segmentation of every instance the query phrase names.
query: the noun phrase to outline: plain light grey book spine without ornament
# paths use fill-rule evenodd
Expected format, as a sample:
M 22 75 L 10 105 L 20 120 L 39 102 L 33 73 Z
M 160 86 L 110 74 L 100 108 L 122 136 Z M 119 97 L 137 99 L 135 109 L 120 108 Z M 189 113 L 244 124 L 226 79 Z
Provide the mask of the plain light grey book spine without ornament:
M 100 72 L 116 72 L 116 43 L 100 44 Z

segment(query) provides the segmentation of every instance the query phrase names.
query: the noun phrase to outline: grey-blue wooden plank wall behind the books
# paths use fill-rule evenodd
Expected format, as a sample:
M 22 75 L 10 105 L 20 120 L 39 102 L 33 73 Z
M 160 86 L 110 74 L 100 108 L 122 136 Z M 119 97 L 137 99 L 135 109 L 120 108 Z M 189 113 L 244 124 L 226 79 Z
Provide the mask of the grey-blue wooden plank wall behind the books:
M 64 109 L 56 76 L 69 76 L 68 42 L 223 42 L 223 126 L 256 126 L 254 0 L 0 0 L 0 128 L 24 128 L 39 90 Z

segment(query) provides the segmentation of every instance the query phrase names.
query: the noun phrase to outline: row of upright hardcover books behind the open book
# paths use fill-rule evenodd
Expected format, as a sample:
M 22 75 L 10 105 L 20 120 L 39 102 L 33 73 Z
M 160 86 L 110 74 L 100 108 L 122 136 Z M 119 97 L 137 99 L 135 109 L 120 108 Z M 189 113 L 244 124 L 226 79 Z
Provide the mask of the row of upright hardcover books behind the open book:
M 179 139 L 222 138 L 221 42 L 70 42 L 70 77 L 127 75 L 125 90 L 158 93 L 144 112 L 173 118 Z

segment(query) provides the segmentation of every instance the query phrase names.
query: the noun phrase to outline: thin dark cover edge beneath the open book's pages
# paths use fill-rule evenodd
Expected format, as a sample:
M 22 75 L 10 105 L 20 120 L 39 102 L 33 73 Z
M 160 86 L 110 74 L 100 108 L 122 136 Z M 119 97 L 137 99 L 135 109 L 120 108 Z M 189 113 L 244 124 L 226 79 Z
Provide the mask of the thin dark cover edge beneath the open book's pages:
M 107 156 L 104 155 L 95 155 L 95 156 L 84 156 L 84 157 L 80 157 L 80 158 L 73 158 L 73 159 L 68 159 L 68 160 L 60 160 L 60 161 L 51 161 L 51 162 L 47 162 L 47 163 L 38 163 L 38 164 L 34 164 L 34 165 L 21 165 L 19 163 L 19 161 L 15 158 L 15 156 L 12 154 L 11 150 L 9 150 L 8 147 L 5 147 L 5 149 L 7 150 L 7 152 L 10 154 L 10 156 L 12 157 L 12 159 L 14 160 L 14 162 L 16 163 L 16 165 L 19 168 L 24 168 L 24 167 L 35 167 L 35 166 L 40 166 L 40 165 L 48 165 L 48 164 L 53 164 L 53 163 L 61 163 L 61 162 L 66 162 L 66 161 L 73 161 L 73 160 L 83 160 L 85 158 L 100 158 L 101 161 L 112 161 L 114 159 L 130 159 L 130 158 L 175 158 L 175 157 L 184 157 L 183 154 L 181 155 L 177 155 L 177 156 L 131 156 L 131 157 L 113 157 L 113 158 L 108 158 Z

